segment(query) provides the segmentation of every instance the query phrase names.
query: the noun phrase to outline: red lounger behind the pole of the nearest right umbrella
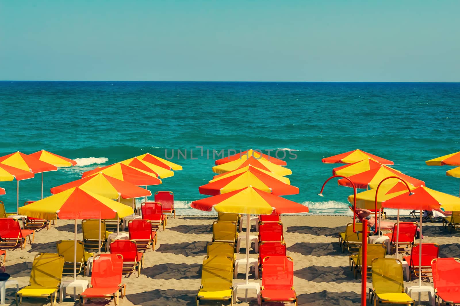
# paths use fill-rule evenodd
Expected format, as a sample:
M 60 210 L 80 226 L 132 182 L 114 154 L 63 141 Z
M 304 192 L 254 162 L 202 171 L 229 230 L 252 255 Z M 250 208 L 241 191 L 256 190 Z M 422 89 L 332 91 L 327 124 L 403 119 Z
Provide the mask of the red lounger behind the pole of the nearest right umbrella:
M 419 276 L 419 254 L 420 244 L 412 246 L 409 256 L 404 256 L 403 260 L 407 261 L 411 274 L 414 273 L 416 277 Z M 431 261 L 439 256 L 439 245 L 436 243 L 422 243 L 422 277 L 430 277 L 431 275 Z M 425 274 L 425 275 L 424 275 Z

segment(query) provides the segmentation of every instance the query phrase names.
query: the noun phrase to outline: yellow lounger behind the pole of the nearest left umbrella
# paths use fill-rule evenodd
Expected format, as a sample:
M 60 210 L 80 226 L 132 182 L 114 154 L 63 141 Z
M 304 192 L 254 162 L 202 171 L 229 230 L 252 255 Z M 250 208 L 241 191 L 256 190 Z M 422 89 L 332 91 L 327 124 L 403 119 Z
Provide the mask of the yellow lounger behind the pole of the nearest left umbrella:
M 64 256 L 63 274 L 74 274 L 74 259 L 75 259 L 75 241 L 74 240 L 59 240 L 56 242 L 57 253 Z M 82 271 L 86 272 L 86 261 L 94 256 L 94 253 L 86 252 L 83 241 L 77 240 L 77 274 Z M 86 274 L 86 273 L 85 273 Z

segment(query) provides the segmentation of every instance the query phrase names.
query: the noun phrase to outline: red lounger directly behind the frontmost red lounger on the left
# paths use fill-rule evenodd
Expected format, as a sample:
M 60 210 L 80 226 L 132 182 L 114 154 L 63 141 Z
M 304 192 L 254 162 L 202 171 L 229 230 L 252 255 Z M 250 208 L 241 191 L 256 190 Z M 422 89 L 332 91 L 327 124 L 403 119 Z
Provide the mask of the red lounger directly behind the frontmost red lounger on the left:
M 138 252 L 136 241 L 118 239 L 110 243 L 110 254 L 123 256 L 123 273 L 133 273 L 138 270 L 138 277 L 144 263 L 144 253 Z

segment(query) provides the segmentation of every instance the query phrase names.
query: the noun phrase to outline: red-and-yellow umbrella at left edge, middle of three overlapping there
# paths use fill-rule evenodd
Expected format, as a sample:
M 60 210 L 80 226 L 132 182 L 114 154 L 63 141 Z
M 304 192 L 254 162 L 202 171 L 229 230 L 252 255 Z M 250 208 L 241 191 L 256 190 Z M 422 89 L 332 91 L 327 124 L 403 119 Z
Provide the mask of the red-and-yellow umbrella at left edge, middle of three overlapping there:
M 24 171 L 43 173 L 48 171 L 57 171 L 57 167 L 45 161 L 40 161 L 38 158 L 29 156 L 19 151 L 0 157 L 0 163 L 11 167 L 16 167 Z M 17 201 L 16 205 L 19 208 L 19 182 L 17 182 Z

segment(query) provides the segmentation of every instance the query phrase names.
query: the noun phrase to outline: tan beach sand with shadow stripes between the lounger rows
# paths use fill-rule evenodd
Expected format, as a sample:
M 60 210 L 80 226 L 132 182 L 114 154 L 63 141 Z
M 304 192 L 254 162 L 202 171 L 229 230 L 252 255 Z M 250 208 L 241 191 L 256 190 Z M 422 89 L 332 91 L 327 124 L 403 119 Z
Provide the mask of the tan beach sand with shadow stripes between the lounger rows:
M 206 255 L 206 243 L 212 239 L 211 224 L 216 217 L 183 216 L 168 218 L 167 229 L 158 232 L 155 251 L 147 250 L 144 255 L 144 268 L 137 278 L 136 273 L 124 276 L 127 285 L 126 296 L 120 299 L 121 306 L 128 305 L 195 305 L 195 295 L 200 287 L 201 264 Z M 391 218 L 395 219 L 395 217 Z M 343 254 L 338 245 L 338 233 L 344 231 L 351 217 L 345 216 L 282 216 L 288 256 L 294 261 L 294 287 L 299 305 L 359 305 L 361 280 L 355 280 L 349 269 L 349 254 Z M 402 221 L 415 221 L 406 217 Z M 78 239 L 81 239 L 81 226 L 78 226 Z M 56 241 L 74 238 L 74 224 L 71 220 L 59 220 L 50 230 L 42 229 L 35 233 L 35 241 L 25 250 L 7 250 L 6 272 L 17 279 L 20 288 L 29 282 L 33 257 L 40 252 L 56 252 Z M 253 231 L 254 226 L 253 226 Z M 244 229 L 243 229 L 244 231 Z M 440 257 L 460 256 L 460 234 L 449 234 L 441 223 L 426 222 L 423 225 L 423 242 L 436 242 L 441 245 Z M 245 235 L 245 233 L 243 234 Z M 244 243 L 242 244 L 244 246 Z M 245 257 L 242 247 L 237 258 Z M 253 249 L 250 256 L 256 258 Z M 393 255 L 394 257 L 394 255 Z M 401 258 L 401 257 L 399 257 Z M 244 282 L 244 268 L 240 267 L 234 283 Z M 70 280 L 73 276 L 63 276 Z M 77 276 L 77 279 L 87 279 Z M 253 272 L 250 281 L 254 281 Z M 261 280 L 255 280 L 261 283 Z M 416 285 L 418 279 L 405 282 L 405 286 Z M 368 278 L 368 287 L 372 286 Z M 423 285 L 432 286 L 431 281 Z M 69 289 L 69 292 L 73 290 Z M 77 293 L 80 292 L 77 289 Z M 14 304 L 15 288 L 6 289 L 6 305 Z M 415 295 L 414 299 L 418 299 Z M 428 295 L 422 293 L 422 305 L 428 305 Z M 24 298 L 24 306 L 44 305 L 45 299 Z M 418 304 L 418 302 L 416 302 Z M 88 300 L 86 305 L 107 305 L 103 300 Z M 113 301 L 110 302 L 113 305 Z M 228 302 L 201 302 L 200 305 L 230 305 Z M 48 302 L 49 305 L 49 302 Z M 61 304 L 78 305 L 68 295 Z M 255 293 L 249 292 L 245 302 L 244 291 L 240 291 L 237 305 L 257 305 Z M 268 305 L 268 304 L 267 304 Z

